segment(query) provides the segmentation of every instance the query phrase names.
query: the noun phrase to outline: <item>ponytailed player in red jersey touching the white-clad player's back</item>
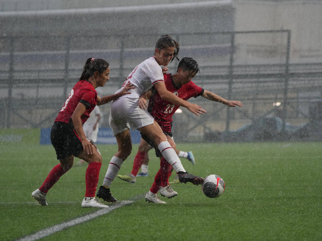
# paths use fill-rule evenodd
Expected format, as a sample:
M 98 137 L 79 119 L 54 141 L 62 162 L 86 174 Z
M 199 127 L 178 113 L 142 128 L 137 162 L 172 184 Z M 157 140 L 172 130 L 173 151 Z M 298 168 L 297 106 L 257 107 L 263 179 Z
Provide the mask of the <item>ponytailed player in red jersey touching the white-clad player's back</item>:
M 86 193 L 82 207 L 108 207 L 95 198 L 102 157 L 86 138 L 83 124 L 96 105 L 105 104 L 124 94 L 130 94 L 127 90 L 133 87 L 127 85 L 119 93 L 99 97 L 95 88 L 104 86 L 110 79 L 109 74 L 108 62 L 103 59 L 89 58 L 84 65 L 81 78 L 71 89 L 60 109 L 50 134 L 51 143 L 60 164 L 49 172 L 41 187 L 31 194 L 41 205 L 48 205 L 46 201 L 48 190 L 72 167 L 74 157 L 78 157 L 89 164 L 86 170 Z

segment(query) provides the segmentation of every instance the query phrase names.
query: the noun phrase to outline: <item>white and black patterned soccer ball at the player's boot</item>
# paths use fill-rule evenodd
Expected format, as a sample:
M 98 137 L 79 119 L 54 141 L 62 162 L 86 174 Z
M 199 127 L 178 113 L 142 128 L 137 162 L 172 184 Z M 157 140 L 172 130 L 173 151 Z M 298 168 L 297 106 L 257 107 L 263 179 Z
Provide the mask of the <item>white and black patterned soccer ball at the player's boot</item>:
M 201 189 L 207 197 L 216 198 L 225 190 L 225 182 L 218 175 L 209 175 L 204 179 Z

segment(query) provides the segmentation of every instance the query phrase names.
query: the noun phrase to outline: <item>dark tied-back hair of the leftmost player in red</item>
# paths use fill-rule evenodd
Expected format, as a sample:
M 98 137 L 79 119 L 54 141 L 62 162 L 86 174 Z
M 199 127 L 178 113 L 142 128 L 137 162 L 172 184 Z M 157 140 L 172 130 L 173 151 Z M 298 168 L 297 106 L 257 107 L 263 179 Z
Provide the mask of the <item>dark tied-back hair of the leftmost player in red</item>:
M 102 74 L 108 67 L 110 67 L 110 64 L 104 59 L 88 58 L 83 67 L 82 76 L 79 80 L 88 80 L 96 71 Z

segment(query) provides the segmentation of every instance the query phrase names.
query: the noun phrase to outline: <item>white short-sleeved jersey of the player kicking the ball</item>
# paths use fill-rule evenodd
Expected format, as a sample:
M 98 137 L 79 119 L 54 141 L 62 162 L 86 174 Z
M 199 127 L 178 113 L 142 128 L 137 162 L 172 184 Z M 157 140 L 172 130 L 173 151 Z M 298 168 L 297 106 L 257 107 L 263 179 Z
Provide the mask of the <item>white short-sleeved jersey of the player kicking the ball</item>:
M 135 86 L 135 89 L 128 90 L 128 92 L 132 93 L 123 95 L 120 98 L 139 98 L 140 95 L 148 91 L 153 86 L 153 84 L 160 81 L 165 81 L 162 68 L 156 62 L 154 57 L 150 57 L 136 66 L 126 78 L 126 81 L 124 82 L 122 88 L 127 83 L 131 82 Z M 116 93 L 121 91 L 121 89 L 117 90 Z

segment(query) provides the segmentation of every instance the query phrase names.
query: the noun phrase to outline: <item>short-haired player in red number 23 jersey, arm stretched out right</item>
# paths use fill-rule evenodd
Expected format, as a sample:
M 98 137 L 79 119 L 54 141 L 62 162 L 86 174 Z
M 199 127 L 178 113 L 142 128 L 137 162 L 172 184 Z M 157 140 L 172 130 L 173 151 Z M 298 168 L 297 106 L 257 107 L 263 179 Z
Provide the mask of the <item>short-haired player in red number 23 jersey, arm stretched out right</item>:
M 198 63 L 193 58 L 189 58 L 189 57 L 183 58 L 179 62 L 177 73 L 173 75 L 172 74 L 164 75 L 167 89 L 184 100 L 188 100 L 191 97 L 202 96 L 206 99 L 226 104 L 229 107 L 243 106 L 243 104 L 239 101 L 226 100 L 220 97 L 219 95 L 214 94 L 196 85 L 191 80 L 198 72 L 199 72 Z M 148 106 L 146 105 L 147 104 L 146 99 L 149 99 Z M 172 122 L 173 114 L 180 106 L 162 99 L 160 95 L 156 91 L 154 91 L 153 88 L 148 92 L 146 92 L 145 94 L 141 95 L 138 104 L 140 108 L 146 108 L 146 107 L 148 108 L 149 113 L 154 117 L 155 121 L 159 124 L 163 132 L 166 134 L 168 142 L 171 144 L 171 146 L 174 149 L 176 149 L 176 144 L 173 140 L 172 132 L 171 132 L 171 122 Z M 144 135 L 142 135 L 142 138 L 145 141 L 141 139 L 140 146 L 151 145 L 156 150 L 157 156 L 160 157 L 160 169 L 154 178 L 154 183 L 150 188 L 147 196 L 155 195 L 158 191 L 160 191 L 161 195 L 166 196 L 168 198 L 177 196 L 178 193 L 175 192 L 169 185 L 169 177 L 172 172 L 171 165 L 164 159 L 164 157 L 162 157 L 162 154 L 158 152 L 158 149 L 155 148 L 155 145 L 153 145 L 153 142 L 151 142 Z M 143 161 L 144 159 L 135 160 L 133 167 L 135 165 L 139 167 Z M 164 201 L 159 199 L 154 200 L 146 197 L 145 197 L 146 201 L 149 201 L 149 202 L 165 203 Z

